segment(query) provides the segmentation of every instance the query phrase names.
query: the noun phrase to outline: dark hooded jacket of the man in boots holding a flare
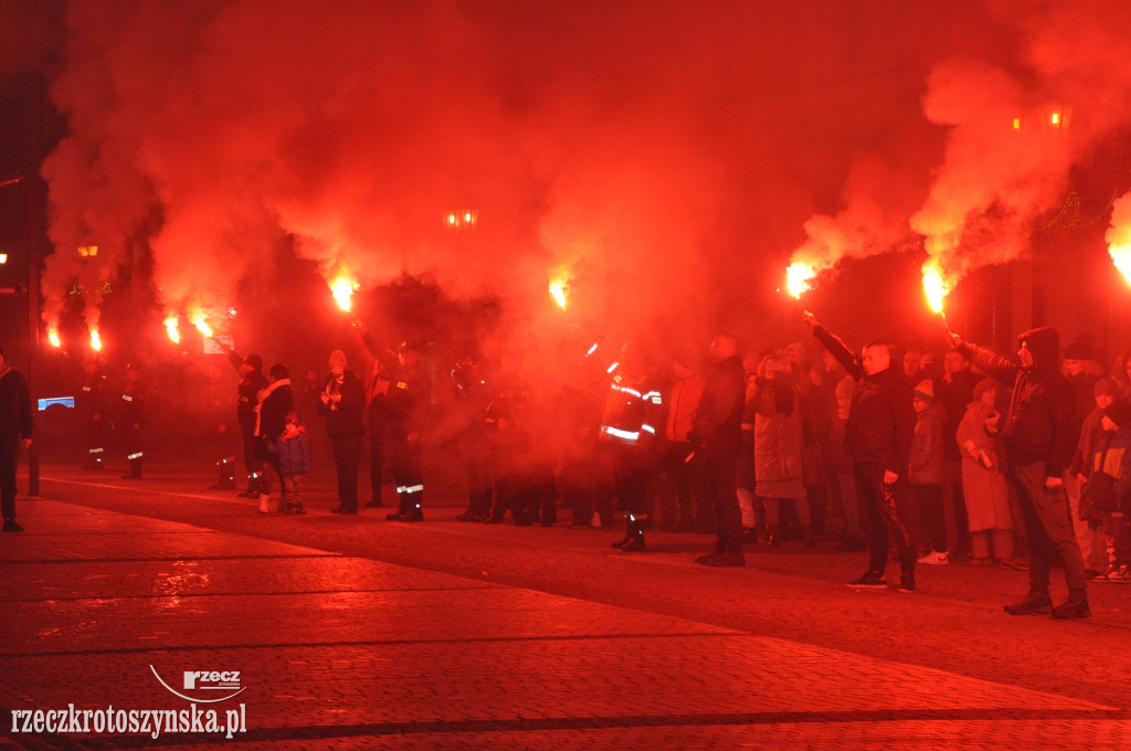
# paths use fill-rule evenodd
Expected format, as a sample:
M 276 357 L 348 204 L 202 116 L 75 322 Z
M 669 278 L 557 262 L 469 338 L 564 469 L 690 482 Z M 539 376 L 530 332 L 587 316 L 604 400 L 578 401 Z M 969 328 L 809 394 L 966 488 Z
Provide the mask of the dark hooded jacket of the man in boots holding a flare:
M 1060 337 L 1042 327 L 1018 337 L 1033 353 L 1033 369 L 1022 370 L 1011 357 L 1001 357 L 964 342 L 961 349 L 990 377 L 1013 382 L 1013 398 L 1002 437 L 1015 466 L 1044 461 L 1048 477 L 1060 477 L 1072 461 L 1080 423 L 1076 394 L 1061 373 Z

